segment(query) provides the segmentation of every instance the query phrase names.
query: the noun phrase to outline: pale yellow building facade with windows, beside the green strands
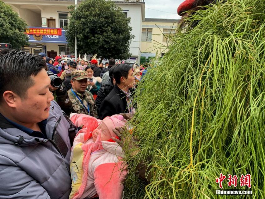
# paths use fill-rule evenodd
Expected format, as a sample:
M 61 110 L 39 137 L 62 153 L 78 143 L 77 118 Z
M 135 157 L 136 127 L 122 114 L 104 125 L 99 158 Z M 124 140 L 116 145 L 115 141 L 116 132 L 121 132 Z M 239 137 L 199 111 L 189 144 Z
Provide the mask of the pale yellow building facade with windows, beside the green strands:
M 141 63 L 149 62 L 153 57 L 163 57 L 177 23 L 178 19 L 145 18 L 141 33 Z

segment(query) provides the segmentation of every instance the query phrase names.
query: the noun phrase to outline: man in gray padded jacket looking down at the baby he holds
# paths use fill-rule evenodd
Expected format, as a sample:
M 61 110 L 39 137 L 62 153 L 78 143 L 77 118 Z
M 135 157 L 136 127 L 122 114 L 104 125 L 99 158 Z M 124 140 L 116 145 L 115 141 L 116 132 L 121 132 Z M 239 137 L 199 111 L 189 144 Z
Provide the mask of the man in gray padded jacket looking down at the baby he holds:
M 66 199 L 70 124 L 40 56 L 0 51 L 0 199 Z

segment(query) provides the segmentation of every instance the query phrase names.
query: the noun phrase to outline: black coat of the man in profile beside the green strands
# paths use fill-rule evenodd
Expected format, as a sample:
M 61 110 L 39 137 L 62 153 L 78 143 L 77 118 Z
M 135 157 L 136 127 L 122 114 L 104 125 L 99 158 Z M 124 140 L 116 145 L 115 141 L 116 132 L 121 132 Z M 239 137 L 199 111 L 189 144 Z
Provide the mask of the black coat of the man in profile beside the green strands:
M 119 113 L 128 113 L 126 95 L 115 85 L 113 90 L 103 100 L 99 109 L 99 119 Z

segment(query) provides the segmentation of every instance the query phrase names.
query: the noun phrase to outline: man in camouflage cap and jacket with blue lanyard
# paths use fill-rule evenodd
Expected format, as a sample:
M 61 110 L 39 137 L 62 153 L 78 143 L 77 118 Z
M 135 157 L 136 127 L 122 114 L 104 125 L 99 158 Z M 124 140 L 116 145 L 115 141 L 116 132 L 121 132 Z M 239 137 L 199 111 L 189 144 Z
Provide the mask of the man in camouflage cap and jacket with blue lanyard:
M 72 102 L 72 113 L 83 113 L 98 118 L 97 106 L 92 93 L 86 91 L 87 73 L 82 70 L 72 72 L 72 88 L 68 91 L 68 96 Z

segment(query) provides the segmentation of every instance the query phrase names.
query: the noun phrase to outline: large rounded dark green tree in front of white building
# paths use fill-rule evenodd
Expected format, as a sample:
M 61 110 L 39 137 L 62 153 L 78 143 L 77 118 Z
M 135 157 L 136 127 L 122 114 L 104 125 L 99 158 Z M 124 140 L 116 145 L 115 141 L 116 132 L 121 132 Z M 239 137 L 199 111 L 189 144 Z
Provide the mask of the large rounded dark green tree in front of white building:
M 71 47 L 77 47 L 80 54 L 98 54 L 103 58 L 127 59 L 132 27 L 122 9 L 111 1 L 86 0 L 75 9 L 69 6 L 66 38 Z

